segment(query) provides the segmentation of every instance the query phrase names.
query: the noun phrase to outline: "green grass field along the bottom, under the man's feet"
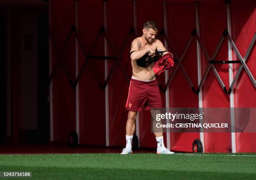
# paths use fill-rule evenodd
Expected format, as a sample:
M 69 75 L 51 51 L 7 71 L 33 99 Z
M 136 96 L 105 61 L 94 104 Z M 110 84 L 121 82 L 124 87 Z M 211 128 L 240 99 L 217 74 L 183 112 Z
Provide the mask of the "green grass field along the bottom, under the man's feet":
M 38 180 L 243 180 L 256 178 L 256 154 L 0 155 L 0 171 L 30 171 Z

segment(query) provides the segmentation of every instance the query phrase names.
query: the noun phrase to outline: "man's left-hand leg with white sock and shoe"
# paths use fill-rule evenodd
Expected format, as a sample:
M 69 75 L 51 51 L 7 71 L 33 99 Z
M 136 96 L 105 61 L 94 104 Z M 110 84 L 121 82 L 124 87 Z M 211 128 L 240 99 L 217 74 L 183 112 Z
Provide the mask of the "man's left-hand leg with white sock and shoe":
M 133 140 L 133 134 L 135 132 L 135 121 L 137 117 L 137 112 L 129 111 L 128 112 L 128 118 L 126 121 L 126 146 L 123 149 L 123 152 L 121 154 L 131 154 L 132 153 L 132 146 L 131 142 Z

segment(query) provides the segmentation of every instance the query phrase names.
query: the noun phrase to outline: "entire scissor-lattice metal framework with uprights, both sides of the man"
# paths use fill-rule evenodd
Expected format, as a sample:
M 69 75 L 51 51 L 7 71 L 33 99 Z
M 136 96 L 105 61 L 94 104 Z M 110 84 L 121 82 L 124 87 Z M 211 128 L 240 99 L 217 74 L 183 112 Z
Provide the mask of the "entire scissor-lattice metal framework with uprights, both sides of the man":
M 78 5 L 78 1 L 75 0 L 74 1 L 76 5 Z M 227 4 L 227 15 L 230 18 L 230 1 L 226 0 L 225 3 Z M 86 42 L 85 40 L 83 40 L 81 38 L 81 36 L 79 36 L 78 33 L 78 29 L 79 27 L 77 26 L 77 23 L 75 23 L 74 25 L 70 26 L 70 30 L 67 33 L 67 35 L 65 35 L 65 41 L 64 44 L 61 47 L 58 47 L 57 43 L 56 43 L 56 39 L 54 38 L 54 34 L 51 31 L 51 28 L 49 28 L 49 38 L 51 40 L 52 43 L 52 49 L 54 49 L 54 51 L 56 52 L 57 55 L 57 60 L 55 62 L 55 64 L 53 65 L 53 68 L 51 70 L 50 76 L 49 76 L 49 84 L 51 84 L 52 79 L 54 77 L 54 74 L 56 73 L 56 69 L 57 67 L 62 67 L 65 75 L 67 77 L 67 80 L 69 81 L 69 84 L 71 85 L 72 88 L 77 89 L 77 85 L 79 84 L 79 80 L 81 79 L 84 70 L 86 67 L 89 67 L 89 69 L 92 71 L 92 74 L 97 82 L 97 84 L 99 85 L 99 87 L 102 90 L 105 90 L 105 92 L 108 91 L 108 84 L 110 82 L 110 79 L 114 79 L 115 77 L 113 76 L 113 73 L 115 71 L 116 68 L 120 68 L 123 76 L 125 77 L 125 81 L 129 84 L 130 82 L 130 77 L 128 77 L 128 72 L 125 71 L 124 66 L 122 65 L 122 61 L 124 61 L 123 57 L 125 57 L 126 55 L 124 54 L 125 52 L 125 48 L 130 47 L 131 44 L 131 40 L 133 38 L 137 37 L 137 0 L 133 0 L 133 22 L 134 25 L 133 27 L 127 28 L 127 35 L 125 37 L 125 39 L 122 42 L 122 46 L 120 48 L 120 51 L 116 50 L 115 44 L 113 43 L 113 41 L 111 40 L 109 34 L 107 33 L 107 15 L 106 15 L 106 11 L 107 11 L 107 0 L 103 0 L 103 4 L 104 4 L 104 26 L 102 26 L 102 28 L 100 28 L 98 30 L 97 35 L 95 36 L 94 41 L 92 42 L 89 50 L 87 50 L 83 44 L 83 42 Z M 199 20 L 199 6 L 198 6 L 199 2 L 195 2 L 196 5 L 196 26 L 197 28 L 192 29 L 191 31 L 191 37 L 189 37 L 189 39 L 187 40 L 187 44 L 184 48 L 184 50 L 182 51 L 181 55 L 177 55 L 177 53 L 175 52 L 175 45 L 173 45 L 172 42 L 169 41 L 169 38 L 167 36 L 167 26 L 166 26 L 166 22 L 167 22 L 167 13 L 166 13 L 166 5 L 167 3 L 164 2 L 164 18 L 165 18 L 165 24 L 164 24 L 164 29 L 160 30 L 159 36 L 162 37 L 164 39 L 164 41 L 166 42 L 165 45 L 166 47 L 168 46 L 168 50 L 170 50 L 170 52 L 173 53 L 174 55 L 174 61 L 176 62 L 173 69 L 169 72 L 171 72 L 170 74 L 165 76 L 165 84 L 161 85 L 159 78 L 156 77 L 156 79 L 159 81 L 159 89 L 162 92 L 168 92 L 168 88 L 170 87 L 170 84 L 173 80 L 173 78 L 175 77 L 175 74 L 177 74 L 177 70 L 180 67 L 182 70 L 182 73 L 184 75 L 184 77 L 187 80 L 187 83 L 189 84 L 189 87 L 191 88 L 192 92 L 194 92 L 196 95 L 198 95 L 198 100 L 199 100 L 199 106 L 198 107 L 202 107 L 202 87 L 204 87 L 205 85 L 205 79 L 207 77 L 207 75 L 210 72 L 210 69 L 213 71 L 215 78 L 218 80 L 218 84 L 221 86 L 221 88 L 223 89 L 223 92 L 230 96 L 230 107 L 234 107 L 231 102 L 231 99 L 234 99 L 233 96 L 233 89 L 235 87 L 235 85 L 237 85 L 238 82 L 238 77 L 241 74 L 242 69 L 244 68 L 246 74 L 248 75 L 251 83 L 253 84 L 254 88 L 256 88 L 256 81 L 255 81 L 255 77 L 253 77 L 253 74 L 251 73 L 250 69 L 248 68 L 248 66 L 246 65 L 246 60 L 248 59 L 248 57 L 250 56 L 251 52 L 253 51 L 254 47 L 255 47 L 255 40 L 256 40 L 256 33 L 254 32 L 253 38 L 251 40 L 250 45 L 247 48 L 246 54 L 244 57 L 241 56 L 241 53 L 239 52 L 238 48 L 236 47 L 236 44 L 233 42 L 233 39 L 231 38 L 231 31 L 230 31 L 230 24 L 228 24 L 227 29 L 223 30 L 223 33 L 220 33 L 220 40 L 218 42 L 218 44 L 215 47 L 215 51 L 213 52 L 212 56 L 210 56 L 205 48 L 205 45 L 202 43 L 201 39 L 200 39 L 200 30 L 198 29 L 198 27 L 200 27 L 198 20 Z M 77 14 L 77 12 L 75 12 Z M 77 15 L 76 15 L 77 18 Z M 166 31 L 166 32 L 165 32 Z M 122 30 L 123 32 L 123 30 Z M 83 62 L 82 65 L 79 66 L 79 70 L 78 72 L 76 72 L 76 76 L 72 77 L 71 73 L 68 71 L 68 68 L 64 65 L 64 53 L 67 51 L 67 45 L 69 44 L 72 35 L 75 36 L 75 40 L 76 40 L 76 50 L 79 49 L 82 52 L 83 55 Z M 99 43 L 100 37 L 103 37 L 105 39 L 105 55 L 101 56 L 101 55 L 97 55 L 97 54 L 93 54 L 93 52 L 96 50 L 97 47 L 97 43 Z M 207 38 L 207 37 L 206 37 Z M 187 73 L 187 69 L 184 68 L 184 66 L 182 65 L 182 60 L 184 60 L 184 56 L 187 53 L 187 50 L 189 48 L 189 46 L 192 44 L 192 40 L 195 39 L 196 43 L 197 43 L 197 65 L 198 68 L 201 68 L 201 59 L 198 57 L 198 51 L 199 54 L 201 55 L 201 49 L 202 49 L 202 54 L 206 57 L 206 60 L 208 61 L 207 67 L 205 68 L 205 70 L 202 72 L 202 78 L 201 78 L 201 69 L 197 70 L 198 76 L 197 76 L 197 86 L 193 85 L 191 78 L 189 77 L 188 73 Z M 232 48 L 233 47 L 233 51 L 235 52 L 234 54 L 238 57 L 239 60 L 232 60 L 232 58 L 230 58 L 230 54 L 228 54 L 228 58 L 229 60 L 220 60 L 220 59 L 216 59 L 216 56 L 218 54 L 218 52 L 220 52 L 220 47 L 221 45 L 223 45 L 223 41 L 227 39 L 228 40 L 228 44 L 230 45 L 228 47 L 228 52 L 232 52 Z M 72 39 L 73 40 L 73 39 Z M 107 46 L 107 47 L 106 47 Z M 112 52 L 113 56 L 108 56 L 108 47 L 110 47 L 110 51 Z M 200 47 L 200 50 L 198 50 Z M 106 53 L 107 52 L 107 53 Z M 231 53 L 232 54 L 232 53 Z M 232 55 L 231 55 L 232 56 Z M 127 59 L 128 59 L 128 54 L 127 54 Z M 254 57 L 253 57 L 254 58 Z M 125 57 L 125 60 L 127 60 Z M 108 66 L 106 66 L 105 63 L 105 78 L 101 78 L 100 77 L 100 72 L 98 72 L 97 70 L 95 70 L 95 66 L 92 63 L 92 60 L 105 60 L 105 62 L 108 61 L 114 61 L 113 65 L 110 67 L 110 69 L 108 69 Z M 77 65 L 77 62 L 74 62 Z M 233 74 L 229 74 L 229 79 L 231 80 L 231 82 L 229 83 L 230 87 L 226 87 L 223 83 L 222 78 L 220 77 L 218 71 L 215 68 L 215 64 L 233 64 L 233 63 L 237 63 L 240 64 L 240 67 L 238 68 L 236 75 L 233 78 Z M 79 64 L 79 63 L 78 63 Z M 200 64 L 200 66 L 199 66 Z M 229 66 L 230 67 L 230 66 Z M 232 67 L 232 66 L 231 66 Z M 200 76 L 200 78 L 199 78 Z M 232 78 L 231 78 L 232 77 Z M 175 86 L 175 85 L 172 85 Z M 166 93 L 167 94 L 167 93 Z M 108 93 L 105 93 L 105 96 L 108 98 Z M 231 98 L 232 97 L 232 98 Z M 166 102 L 169 103 L 169 96 L 166 96 Z M 107 99 L 105 99 L 105 101 L 108 101 Z M 233 101 L 233 100 L 232 100 Z M 201 102 L 201 104 L 200 104 Z M 105 106 L 108 106 L 108 103 L 105 103 Z M 108 111 L 108 107 L 106 107 L 105 111 Z M 79 107 L 78 107 L 79 108 Z M 78 113 L 79 114 L 79 113 Z M 109 132 L 108 132 L 108 120 L 107 120 L 108 114 L 106 114 L 106 136 L 108 136 Z M 138 121 L 138 120 L 137 120 Z M 136 121 L 136 122 L 137 122 Z M 137 132 L 137 130 L 139 129 L 139 126 L 137 126 L 136 123 L 136 133 L 139 134 L 139 132 Z M 168 135 L 166 135 L 168 136 Z M 202 144 L 204 144 L 203 142 L 203 134 L 200 134 L 200 139 L 202 140 Z M 106 138 L 106 142 L 109 141 L 109 137 Z M 168 139 L 167 139 L 168 141 Z M 170 140 L 169 140 L 170 141 Z M 232 142 L 234 142 L 234 139 L 232 139 Z M 170 144 L 170 142 L 169 142 Z M 106 143 L 106 145 L 109 145 L 109 142 Z M 232 145 L 233 148 L 233 145 Z

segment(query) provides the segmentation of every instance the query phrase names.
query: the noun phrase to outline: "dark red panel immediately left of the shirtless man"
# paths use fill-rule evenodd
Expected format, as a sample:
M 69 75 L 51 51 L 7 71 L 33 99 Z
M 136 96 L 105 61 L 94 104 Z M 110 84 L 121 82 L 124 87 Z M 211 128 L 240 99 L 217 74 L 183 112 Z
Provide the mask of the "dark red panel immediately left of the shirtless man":
M 123 7 L 125 7 L 125 10 Z M 128 80 L 131 79 L 132 75 L 129 52 L 131 50 L 131 42 L 134 39 L 134 33 L 129 35 L 129 31 L 133 27 L 133 1 L 109 0 L 108 12 L 108 36 L 113 46 L 113 50 L 108 46 L 108 55 L 118 56 L 123 50 L 120 64 L 125 71 L 123 72 L 121 67 L 117 65 L 108 83 L 110 145 L 124 146 L 125 125 L 128 116 L 128 111 L 125 110 L 125 103 L 129 89 Z M 128 35 L 128 41 L 125 43 Z M 108 61 L 108 73 L 111 72 L 115 63 L 116 60 Z M 128 77 L 128 80 L 125 76 Z

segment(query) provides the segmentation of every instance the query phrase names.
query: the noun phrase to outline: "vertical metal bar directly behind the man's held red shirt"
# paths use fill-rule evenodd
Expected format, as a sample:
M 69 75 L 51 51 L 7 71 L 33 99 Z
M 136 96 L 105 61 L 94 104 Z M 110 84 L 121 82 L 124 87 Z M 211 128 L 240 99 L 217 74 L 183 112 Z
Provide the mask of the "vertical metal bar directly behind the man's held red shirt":
M 164 32 L 166 37 L 168 37 L 168 26 L 167 26 L 167 2 L 164 1 Z M 164 47 L 166 48 L 166 50 L 168 50 L 168 43 L 166 41 L 166 39 L 164 40 Z M 167 83 L 169 79 L 169 71 L 166 70 L 165 74 L 164 74 L 164 82 L 165 84 Z M 165 91 L 165 107 L 168 109 L 170 107 L 170 99 L 169 99 L 169 85 L 167 86 L 167 89 Z M 169 122 L 167 122 L 169 123 Z M 166 146 L 168 149 L 171 149 L 171 137 L 170 137 L 170 133 L 166 133 Z

